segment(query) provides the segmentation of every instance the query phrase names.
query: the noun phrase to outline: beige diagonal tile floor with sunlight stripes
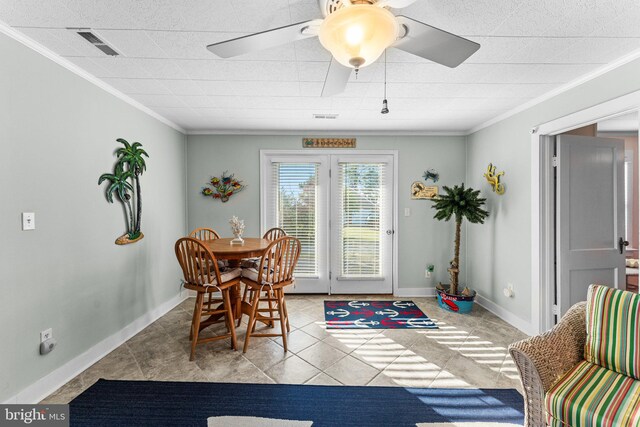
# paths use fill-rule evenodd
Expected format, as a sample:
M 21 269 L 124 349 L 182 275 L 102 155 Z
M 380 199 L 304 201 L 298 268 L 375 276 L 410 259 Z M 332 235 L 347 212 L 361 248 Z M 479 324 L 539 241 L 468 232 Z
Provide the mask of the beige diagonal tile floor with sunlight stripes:
M 521 389 L 507 347 L 526 335 L 478 305 L 460 315 L 440 309 L 434 298 L 412 298 L 436 321 L 436 330 L 325 330 L 325 299 L 351 298 L 287 296 L 287 353 L 280 339 L 252 338 L 246 354 L 220 340 L 198 346 L 193 362 L 188 334 L 194 299 L 187 299 L 44 402 L 67 403 L 99 378 Z M 238 330 L 239 348 L 246 320 Z M 224 327 L 209 333 L 215 328 Z

